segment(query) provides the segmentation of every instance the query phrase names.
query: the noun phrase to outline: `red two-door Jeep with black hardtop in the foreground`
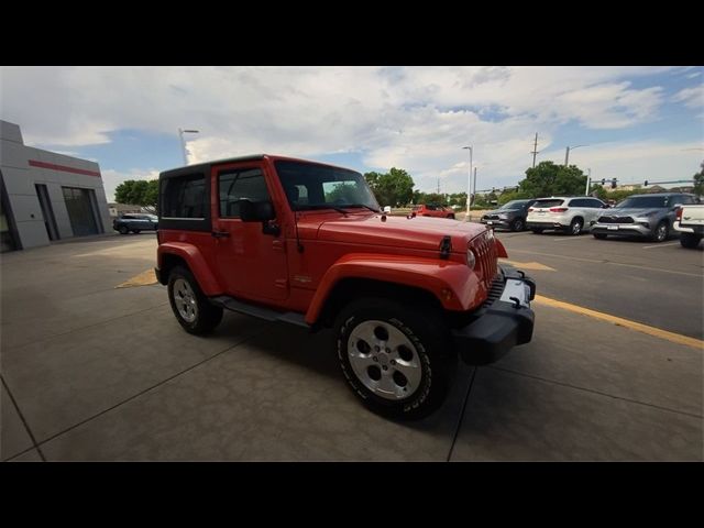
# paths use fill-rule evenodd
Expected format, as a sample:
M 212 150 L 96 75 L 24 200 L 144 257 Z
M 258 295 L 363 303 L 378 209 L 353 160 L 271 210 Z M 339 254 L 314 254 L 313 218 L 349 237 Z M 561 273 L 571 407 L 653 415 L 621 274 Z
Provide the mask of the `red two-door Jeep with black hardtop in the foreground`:
M 530 341 L 535 283 L 506 272 L 477 223 L 391 217 L 356 172 L 256 155 L 160 175 L 156 277 L 187 332 L 227 308 L 333 328 L 348 384 L 373 410 L 436 409 L 458 354 L 495 361 Z

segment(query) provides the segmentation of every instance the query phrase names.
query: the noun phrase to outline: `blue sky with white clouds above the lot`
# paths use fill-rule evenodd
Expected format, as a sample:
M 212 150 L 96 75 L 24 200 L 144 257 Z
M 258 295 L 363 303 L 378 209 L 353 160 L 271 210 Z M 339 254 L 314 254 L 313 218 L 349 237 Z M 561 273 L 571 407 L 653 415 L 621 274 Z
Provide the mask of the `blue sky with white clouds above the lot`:
M 620 183 L 691 177 L 704 157 L 702 67 L 2 67 L 0 118 L 29 145 L 124 179 L 252 153 L 361 172 L 408 170 L 416 187 L 515 185 L 532 163 Z

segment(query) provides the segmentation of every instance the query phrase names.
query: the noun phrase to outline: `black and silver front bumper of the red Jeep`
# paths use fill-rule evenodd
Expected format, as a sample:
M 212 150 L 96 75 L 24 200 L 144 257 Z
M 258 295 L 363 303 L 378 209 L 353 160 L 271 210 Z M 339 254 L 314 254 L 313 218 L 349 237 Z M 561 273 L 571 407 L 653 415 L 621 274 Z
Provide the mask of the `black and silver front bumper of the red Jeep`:
M 536 296 L 536 283 L 522 272 L 502 270 L 492 293 L 501 297 L 482 307 L 468 326 L 452 330 L 454 348 L 470 365 L 494 363 L 532 338 L 535 314 L 530 301 Z

